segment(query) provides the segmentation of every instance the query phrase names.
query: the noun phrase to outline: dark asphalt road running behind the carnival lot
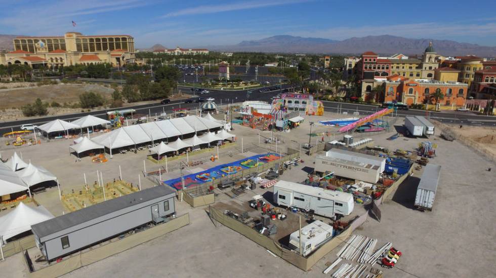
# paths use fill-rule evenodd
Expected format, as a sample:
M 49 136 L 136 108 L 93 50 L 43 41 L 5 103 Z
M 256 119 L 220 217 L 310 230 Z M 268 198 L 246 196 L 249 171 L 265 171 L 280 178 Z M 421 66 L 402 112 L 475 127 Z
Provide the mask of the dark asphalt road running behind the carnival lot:
M 282 89 L 288 87 L 290 86 L 282 85 Z M 188 92 L 190 90 L 189 87 L 179 86 L 179 88 L 181 90 Z M 232 102 L 233 100 L 234 102 L 240 102 L 246 99 L 269 101 L 272 96 L 280 92 L 279 89 L 275 89 L 269 92 L 260 92 L 261 89 L 262 88 L 253 90 L 253 92 L 249 95 L 248 98 L 246 97 L 246 91 L 228 91 L 228 90 L 214 90 L 214 89 L 209 89 L 210 94 L 203 95 L 203 97 L 213 97 L 215 98 L 215 102 L 217 104 L 220 104 L 221 100 L 222 103 L 224 104 L 226 102 Z M 376 112 L 377 109 L 380 109 L 380 107 L 376 105 L 367 105 L 367 104 L 354 104 L 354 103 L 333 102 L 333 101 L 323 101 L 323 103 L 326 112 L 337 113 L 339 109 L 341 113 L 347 112 L 350 117 L 353 115 L 354 112 L 358 112 L 360 116 L 363 116 L 363 115 L 372 114 Z M 160 114 L 163 112 L 166 112 L 168 114 L 172 113 L 172 110 L 174 108 L 180 108 L 180 107 L 195 109 L 195 107 L 199 107 L 199 104 L 184 103 L 184 99 L 183 99 L 183 100 L 172 101 L 171 103 L 165 105 L 160 103 L 153 103 L 153 104 L 128 106 L 126 108 L 133 108 L 137 111 L 138 114 L 150 114 L 154 116 L 155 114 Z M 78 118 L 87 115 L 93 115 L 99 118 L 106 119 L 107 117 L 106 113 L 107 111 L 110 110 L 115 110 L 115 109 L 98 110 L 98 111 L 76 113 L 70 115 L 50 116 L 44 118 L 4 122 L 4 123 L 0 123 L 0 134 L 10 132 L 12 130 L 14 131 L 20 130 L 20 126 L 23 124 L 34 124 L 39 126 L 47 122 L 53 121 L 55 119 L 61 119 L 64 121 L 74 121 Z M 426 116 L 426 112 L 422 110 L 412 110 L 412 109 L 399 110 L 397 115 L 399 117 L 414 116 L 414 115 Z M 343 117 L 347 117 L 347 116 L 343 116 Z M 479 116 L 471 112 L 431 112 L 430 118 L 446 124 L 496 127 L 496 118 L 491 116 Z

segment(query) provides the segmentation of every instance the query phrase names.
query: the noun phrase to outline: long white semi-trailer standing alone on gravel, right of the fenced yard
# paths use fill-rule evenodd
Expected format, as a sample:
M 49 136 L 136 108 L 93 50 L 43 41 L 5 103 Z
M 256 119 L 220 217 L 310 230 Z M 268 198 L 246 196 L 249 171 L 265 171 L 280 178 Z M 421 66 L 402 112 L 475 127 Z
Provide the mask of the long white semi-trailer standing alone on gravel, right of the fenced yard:
M 431 163 L 425 166 L 424 173 L 420 178 L 419 187 L 417 188 L 415 207 L 421 210 L 432 210 L 440 174 L 441 166 Z

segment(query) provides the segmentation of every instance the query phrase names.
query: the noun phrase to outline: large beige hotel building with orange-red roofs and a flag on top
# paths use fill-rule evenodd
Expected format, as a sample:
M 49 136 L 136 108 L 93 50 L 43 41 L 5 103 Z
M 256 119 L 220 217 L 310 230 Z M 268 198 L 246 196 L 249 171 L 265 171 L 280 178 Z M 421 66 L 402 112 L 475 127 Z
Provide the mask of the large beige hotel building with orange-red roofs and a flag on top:
M 58 37 L 16 37 L 14 51 L 0 53 L 0 64 L 48 68 L 76 64 L 114 67 L 135 62 L 134 39 L 129 35 L 85 36 L 68 32 Z

